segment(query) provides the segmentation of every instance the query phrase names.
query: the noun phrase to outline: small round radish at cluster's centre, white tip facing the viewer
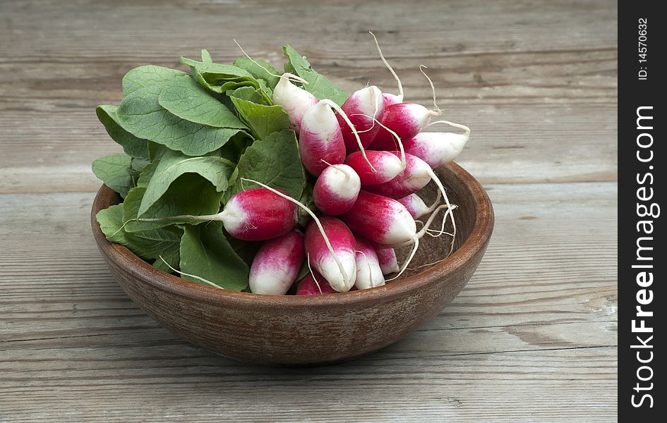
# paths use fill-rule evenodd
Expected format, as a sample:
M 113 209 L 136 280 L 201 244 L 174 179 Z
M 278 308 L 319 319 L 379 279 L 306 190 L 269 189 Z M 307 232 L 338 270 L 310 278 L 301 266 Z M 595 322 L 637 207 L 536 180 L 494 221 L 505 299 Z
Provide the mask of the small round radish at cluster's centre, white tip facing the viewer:
M 359 190 L 361 182 L 353 168 L 347 164 L 332 164 L 318 176 L 313 188 L 313 202 L 320 212 L 338 216 L 352 207 Z

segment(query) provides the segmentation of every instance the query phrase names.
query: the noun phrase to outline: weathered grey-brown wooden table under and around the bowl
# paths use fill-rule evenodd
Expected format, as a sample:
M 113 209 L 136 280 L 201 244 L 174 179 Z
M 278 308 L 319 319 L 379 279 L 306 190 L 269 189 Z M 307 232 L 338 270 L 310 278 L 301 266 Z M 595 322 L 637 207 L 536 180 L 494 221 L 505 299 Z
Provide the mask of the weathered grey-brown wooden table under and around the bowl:
M 0 2 L 0 422 L 611 422 L 616 417 L 614 1 Z M 193 347 L 123 293 L 92 240 L 95 117 L 145 63 L 280 63 L 352 91 L 428 72 L 472 138 L 495 233 L 459 297 L 355 362 L 267 369 Z

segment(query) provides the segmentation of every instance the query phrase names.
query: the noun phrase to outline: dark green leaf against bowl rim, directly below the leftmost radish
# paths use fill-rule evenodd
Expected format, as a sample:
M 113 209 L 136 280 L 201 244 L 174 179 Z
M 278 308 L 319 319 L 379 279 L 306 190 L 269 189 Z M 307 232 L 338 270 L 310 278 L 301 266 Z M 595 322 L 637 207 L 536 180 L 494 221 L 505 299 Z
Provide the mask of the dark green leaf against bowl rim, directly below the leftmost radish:
M 248 265 L 236 255 L 222 233 L 222 223 L 186 226 L 181 239 L 181 271 L 194 274 L 229 290 L 248 286 Z M 196 278 L 182 276 L 202 283 Z

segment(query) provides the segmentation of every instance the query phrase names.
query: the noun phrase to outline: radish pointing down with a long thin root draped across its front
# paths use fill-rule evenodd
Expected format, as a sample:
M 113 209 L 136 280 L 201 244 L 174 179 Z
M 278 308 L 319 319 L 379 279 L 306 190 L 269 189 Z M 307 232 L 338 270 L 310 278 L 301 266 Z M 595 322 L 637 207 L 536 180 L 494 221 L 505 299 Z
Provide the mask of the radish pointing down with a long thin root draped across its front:
M 356 240 L 345 223 L 335 217 L 322 217 L 320 224 L 328 236 L 332 250 L 325 245 L 322 233 L 314 221 L 306 228 L 306 256 L 308 263 L 320 272 L 339 293 L 345 293 L 354 285 L 356 278 Z

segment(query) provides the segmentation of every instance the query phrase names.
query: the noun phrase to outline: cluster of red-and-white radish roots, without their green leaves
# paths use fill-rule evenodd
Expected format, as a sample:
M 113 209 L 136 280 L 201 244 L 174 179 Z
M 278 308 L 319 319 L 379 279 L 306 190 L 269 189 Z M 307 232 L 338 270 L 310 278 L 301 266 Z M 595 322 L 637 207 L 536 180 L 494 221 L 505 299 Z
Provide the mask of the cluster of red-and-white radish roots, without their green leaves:
M 235 238 L 263 240 L 250 269 L 253 293 L 284 295 L 304 260 L 310 271 L 299 281 L 296 295 L 382 286 L 385 275 L 399 276 L 407 268 L 421 236 L 444 233 L 447 216 L 455 227 L 455 205 L 433 168 L 455 159 L 470 131 L 443 121 L 464 133 L 422 132 L 440 109 L 403 102 L 400 82 L 398 95 L 370 86 L 338 107 L 328 99 L 318 101 L 292 81 L 304 83 L 284 73 L 273 102 L 289 115 L 301 161 L 316 178 L 313 202 L 319 213 L 248 180 L 261 188 L 237 192 L 220 214 L 208 218 L 221 220 Z M 428 207 L 416 192 L 431 180 L 439 193 Z M 443 205 L 438 204 L 440 195 Z M 303 233 L 295 228 L 298 207 L 312 216 Z M 440 209 L 445 209 L 443 228 L 433 231 L 429 226 Z M 417 231 L 415 219 L 426 214 L 431 216 Z M 411 255 L 399 267 L 394 248 L 408 245 L 413 245 Z

